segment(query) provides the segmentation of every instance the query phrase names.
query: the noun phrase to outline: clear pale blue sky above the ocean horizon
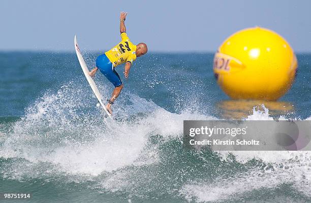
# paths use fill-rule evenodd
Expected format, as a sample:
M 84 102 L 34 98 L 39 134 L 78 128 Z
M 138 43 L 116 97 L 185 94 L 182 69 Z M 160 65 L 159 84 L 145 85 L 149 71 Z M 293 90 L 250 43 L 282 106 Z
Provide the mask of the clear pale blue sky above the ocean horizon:
M 214 52 L 232 33 L 261 26 L 296 52 L 311 52 L 311 1 L 16 1 L 0 2 L 0 50 L 107 50 L 127 33 L 153 52 Z

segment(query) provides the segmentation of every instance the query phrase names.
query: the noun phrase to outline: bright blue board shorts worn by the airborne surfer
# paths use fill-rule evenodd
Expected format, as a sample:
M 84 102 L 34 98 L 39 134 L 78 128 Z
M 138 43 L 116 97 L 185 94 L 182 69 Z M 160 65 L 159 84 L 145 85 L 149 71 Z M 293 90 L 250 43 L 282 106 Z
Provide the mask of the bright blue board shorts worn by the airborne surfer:
M 114 70 L 111 61 L 106 54 L 99 55 L 96 59 L 96 67 L 106 76 L 106 78 L 114 85 L 119 87 L 122 85 L 119 74 Z

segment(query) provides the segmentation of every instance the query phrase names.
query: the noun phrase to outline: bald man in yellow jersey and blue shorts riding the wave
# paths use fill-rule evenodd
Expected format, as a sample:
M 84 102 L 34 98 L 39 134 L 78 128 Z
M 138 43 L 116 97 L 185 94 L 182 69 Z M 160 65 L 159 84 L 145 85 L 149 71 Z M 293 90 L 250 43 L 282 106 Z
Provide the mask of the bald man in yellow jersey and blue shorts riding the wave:
M 105 54 L 102 54 L 96 59 L 96 67 L 89 72 L 89 76 L 94 77 L 97 70 L 99 69 L 104 76 L 114 85 L 114 90 L 110 99 L 107 99 L 108 104 L 106 109 L 110 114 L 112 114 L 111 105 L 114 100 L 119 96 L 123 84 L 118 75 L 114 70 L 117 65 L 125 63 L 125 78 L 129 77 L 130 69 L 133 64 L 133 61 L 136 57 L 142 56 L 147 53 L 147 45 L 145 43 L 139 43 L 134 45 L 130 38 L 127 35 L 127 29 L 125 26 L 125 20 L 127 17 L 126 12 L 121 12 L 120 15 L 120 33 L 121 33 L 121 42 L 114 46 L 109 51 L 106 51 Z

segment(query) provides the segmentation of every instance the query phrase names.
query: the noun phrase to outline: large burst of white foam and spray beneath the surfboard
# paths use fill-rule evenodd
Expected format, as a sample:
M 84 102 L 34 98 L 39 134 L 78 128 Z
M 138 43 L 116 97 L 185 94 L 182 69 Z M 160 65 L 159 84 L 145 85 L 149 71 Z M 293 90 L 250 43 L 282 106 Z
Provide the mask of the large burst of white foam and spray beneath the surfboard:
M 151 135 L 181 137 L 183 120 L 215 119 L 189 112 L 173 114 L 152 101 L 127 94 L 128 104 L 123 104 L 126 99 L 118 101 L 115 113 L 128 118 L 140 112 L 144 115 L 110 122 L 98 111 L 79 112 L 82 108 L 96 107 L 87 105 L 92 100 L 87 100 L 89 95 L 84 95 L 83 88 L 71 85 L 54 94 L 47 93 L 27 109 L 25 117 L 13 126 L 0 157 L 51 163 L 59 173 L 98 176 L 130 165 L 157 162 L 157 146 L 146 149 Z M 104 87 L 101 89 L 105 91 Z M 14 176 L 28 172 L 22 167 L 22 171 L 15 173 Z

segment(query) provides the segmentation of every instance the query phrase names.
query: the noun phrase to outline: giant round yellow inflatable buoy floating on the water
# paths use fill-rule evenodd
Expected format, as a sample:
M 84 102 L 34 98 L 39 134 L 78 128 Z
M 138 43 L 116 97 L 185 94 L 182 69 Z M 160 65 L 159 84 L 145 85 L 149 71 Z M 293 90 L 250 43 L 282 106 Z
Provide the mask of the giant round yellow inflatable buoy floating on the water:
M 276 32 L 247 28 L 219 47 L 213 70 L 217 83 L 231 98 L 276 100 L 291 88 L 297 58 Z

